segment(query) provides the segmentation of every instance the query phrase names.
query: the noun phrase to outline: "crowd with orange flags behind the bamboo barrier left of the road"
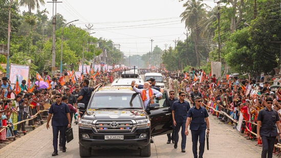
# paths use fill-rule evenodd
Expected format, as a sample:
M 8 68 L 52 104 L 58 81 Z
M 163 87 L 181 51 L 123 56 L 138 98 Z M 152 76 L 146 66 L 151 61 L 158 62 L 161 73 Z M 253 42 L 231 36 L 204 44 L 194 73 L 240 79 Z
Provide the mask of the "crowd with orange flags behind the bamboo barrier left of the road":
M 50 111 L 47 109 L 50 109 L 50 106 L 57 102 L 56 95 L 62 95 L 61 102 L 69 106 L 72 122 L 73 116 L 77 114 L 77 102 L 79 102 L 81 92 L 85 93 L 83 91 L 84 83 L 87 82 L 87 86 L 95 87 L 96 85 L 110 83 L 115 77 L 113 73 L 101 72 L 95 76 L 83 75 L 73 82 L 69 73 L 64 75 L 69 76 L 68 81 L 65 78 L 62 81 L 60 76 L 51 78 L 47 72 L 44 72 L 42 77 L 36 75 L 34 77 L 36 82 L 33 83 L 34 88 L 28 86 L 26 80 L 22 80 L 18 93 L 16 92 L 16 85 L 12 85 L 7 77 L 0 79 L 0 145 L 24 136 L 27 133 L 26 126 L 34 129 L 35 125 L 44 124 L 42 118 L 48 116 Z M 50 86 L 40 88 L 40 82 L 42 82 L 40 78 L 49 82 Z M 30 84 L 32 85 L 31 82 Z M 80 102 L 83 102 L 83 100 L 80 99 Z M 28 121 L 24 121 L 27 119 Z

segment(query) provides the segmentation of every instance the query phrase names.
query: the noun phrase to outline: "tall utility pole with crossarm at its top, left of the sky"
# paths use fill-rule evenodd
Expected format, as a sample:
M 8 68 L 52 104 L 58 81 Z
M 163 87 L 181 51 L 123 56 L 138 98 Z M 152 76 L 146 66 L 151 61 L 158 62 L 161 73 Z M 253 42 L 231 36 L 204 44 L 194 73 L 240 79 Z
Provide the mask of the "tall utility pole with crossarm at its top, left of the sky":
M 47 3 L 53 3 L 53 39 L 52 39 L 52 75 L 55 75 L 56 70 L 56 14 L 57 14 L 57 0 L 52 0 L 52 2 Z

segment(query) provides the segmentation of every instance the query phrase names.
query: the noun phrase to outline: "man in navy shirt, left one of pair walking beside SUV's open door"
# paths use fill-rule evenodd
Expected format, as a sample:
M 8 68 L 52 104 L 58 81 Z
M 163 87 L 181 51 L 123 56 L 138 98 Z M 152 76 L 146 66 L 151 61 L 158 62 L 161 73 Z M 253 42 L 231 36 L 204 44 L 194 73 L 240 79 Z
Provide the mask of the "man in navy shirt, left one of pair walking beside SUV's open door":
M 181 91 L 179 92 L 180 99 L 175 101 L 174 104 L 172 104 L 171 110 L 172 110 L 172 121 L 174 122 L 175 131 L 174 131 L 174 140 L 175 145 L 174 148 L 177 149 L 178 147 L 178 141 L 179 141 L 179 131 L 182 127 L 182 143 L 181 148 L 182 152 L 185 152 L 185 144 L 186 144 L 186 136 L 184 134 L 185 130 L 185 122 L 187 118 L 187 112 L 190 109 L 189 102 L 185 101 L 185 92 Z

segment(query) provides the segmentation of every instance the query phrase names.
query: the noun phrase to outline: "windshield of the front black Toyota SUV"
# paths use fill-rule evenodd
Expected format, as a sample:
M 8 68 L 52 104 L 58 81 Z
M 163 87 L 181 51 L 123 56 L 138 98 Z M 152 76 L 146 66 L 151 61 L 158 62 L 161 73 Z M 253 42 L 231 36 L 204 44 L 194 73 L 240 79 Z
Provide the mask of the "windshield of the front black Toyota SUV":
M 142 108 L 142 103 L 137 93 L 104 93 L 95 94 L 89 108 Z

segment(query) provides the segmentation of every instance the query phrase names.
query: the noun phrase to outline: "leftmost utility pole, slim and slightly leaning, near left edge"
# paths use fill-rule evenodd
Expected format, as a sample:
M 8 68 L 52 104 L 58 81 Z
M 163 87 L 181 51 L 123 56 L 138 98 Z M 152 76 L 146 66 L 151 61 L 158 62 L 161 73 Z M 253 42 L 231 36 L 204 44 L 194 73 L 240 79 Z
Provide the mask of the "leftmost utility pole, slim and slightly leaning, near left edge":
M 7 65 L 6 65 L 6 76 L 9 78 L 10 74 L 10 38 L 11 38 L 11 6 L 12 6 L 13 0 L 10 1 L 9 4 L 9 17 L 8 17 L 8 41 L 7 41 Z

